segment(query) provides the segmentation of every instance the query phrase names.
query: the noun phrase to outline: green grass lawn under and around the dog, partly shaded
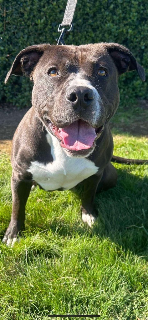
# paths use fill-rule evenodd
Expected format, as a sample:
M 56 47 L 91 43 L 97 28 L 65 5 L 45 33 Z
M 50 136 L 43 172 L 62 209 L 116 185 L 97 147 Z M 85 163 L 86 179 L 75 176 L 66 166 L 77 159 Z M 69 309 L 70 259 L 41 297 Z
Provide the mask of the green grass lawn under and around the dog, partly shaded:
M 148 158 L 144 137 L 114 135 L 114 145 L 117 156 Z M 81 186 L 31 192 L 23 238 L 13 249 L 0 245 L 0 319 L 65 313 L 148 318 L 148 166 L 114 165 L 117 187 L 96 196 L 92 230 L 80 219 Z M 2 238 L 12 206 L 6 154 L 0 167 Z

